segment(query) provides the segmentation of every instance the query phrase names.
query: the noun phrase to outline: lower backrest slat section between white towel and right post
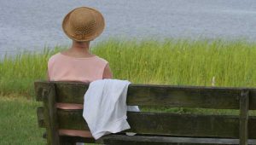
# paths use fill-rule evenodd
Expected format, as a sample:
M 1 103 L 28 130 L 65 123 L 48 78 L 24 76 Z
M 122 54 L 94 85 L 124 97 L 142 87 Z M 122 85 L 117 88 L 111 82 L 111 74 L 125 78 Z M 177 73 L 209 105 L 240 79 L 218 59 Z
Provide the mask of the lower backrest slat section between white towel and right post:
M 128 113 L 131 131 L 174 136 L 238 136 L 236 116 Z

